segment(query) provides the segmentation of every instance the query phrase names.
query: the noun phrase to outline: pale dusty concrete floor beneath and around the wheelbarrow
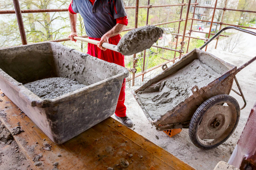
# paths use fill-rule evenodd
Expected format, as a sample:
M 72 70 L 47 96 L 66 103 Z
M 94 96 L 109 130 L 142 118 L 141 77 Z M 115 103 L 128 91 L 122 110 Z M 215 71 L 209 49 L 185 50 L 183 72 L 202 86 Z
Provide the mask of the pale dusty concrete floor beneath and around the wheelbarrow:
M 242 39 L 239 41 L 239 45 L 235 48 L 234 53 L 222 51 L 221 47 L 218 47 L 216 50 L 212 49 L 215 47 L 214 42 L 208 46 L 207 52 L 212 53 L 235 66 L 241 66 L 256 55 L 256 37 L 246 33 L 242 33 L 241 35 Z M 221 39 L 219 43 L 221 43 L 221 41 L 226 40 Z M 160 69 L 155 70 L 151 75 L 148 74 L 147 77 L 153 77 L 160 71 Z M 243 131 L 250 110 L 256 102 L 256 61 L 239 72 L 236 77 L 246 98 L 247 105 L 241 110 L 238 126 L 232 136 L 224 142 L 224 144 L 221 144 L 215 149 L 202 150 L 194 146 L 189 139 L 188 129 L 183 129 L 181 133 L 172 138 L 167 136 L 164 132 L 157 132 L 155 127 L 152 127 L 151 124 L 149 124 L 149 121 L 146 119 L 146 116 L 131 93 L 131 91 L 137 89 L 139 85 L 129 87 L 127 83 L 125 105 L 127 106 L 127 115 L 135 124 L 131 129 L 170 152 L 185 163 L 193 166 L 195 169 L 214 169 L 219 161 L 227 162 L 229 160 L 241 132 Z M 140 84 L 140 82 L 138 81 L 137 84 Z M 233 85 L 233 88 L 237 89 L 236 85 Z M 243 100 L 240 96 L 234 92 L 231 92 L 230 95 L 238 100 L 240 107 L 243 106 Z M 114 116 L 112 117 L 115 118 Z

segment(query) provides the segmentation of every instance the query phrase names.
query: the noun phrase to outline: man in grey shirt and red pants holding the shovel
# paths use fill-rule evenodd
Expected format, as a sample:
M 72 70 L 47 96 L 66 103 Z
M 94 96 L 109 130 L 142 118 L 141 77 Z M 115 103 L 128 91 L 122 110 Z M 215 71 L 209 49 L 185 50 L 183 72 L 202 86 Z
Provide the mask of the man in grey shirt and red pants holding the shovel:
M 115 63 L 124 67 L 124 55 L 102 47 L 103 42 L 117 45 L 121 33 L 127 26 L 128 20 L 122 0 L 72 0 L 68 8 L 71 24 L 71 33 L 68 38 L 71 41 L 77 35 L 77 13 L 85 24 L 85 31 L 89 39 L 98 40 L 98 45 L 88 43 L 88 54 L 104 61 Z M 115 117 L 127 127 L 132 127 L 132 120 L 126 115 L 125 79 L 115 109 Z

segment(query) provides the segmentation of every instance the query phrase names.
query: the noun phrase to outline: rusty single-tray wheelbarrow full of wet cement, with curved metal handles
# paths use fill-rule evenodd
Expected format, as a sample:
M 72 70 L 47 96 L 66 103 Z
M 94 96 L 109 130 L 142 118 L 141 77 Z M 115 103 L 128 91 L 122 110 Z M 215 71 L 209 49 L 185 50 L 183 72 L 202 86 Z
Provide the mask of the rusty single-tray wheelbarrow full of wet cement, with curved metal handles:
M 235 75 L 255 61 L 256 56 L 237 68 L 202 51 L 222 31 L 230 28 L 256 36 L 254 32 L 234 26 L 223 28 L 202 47 L 193 49 L 133 92 L 157 131 L 189 128 L 191 141 L 202 149 L 217 147 L 232 135 L 240 110 L 246 106 Z M 233 80 L 239 92 L 232 89 Z M 231 90 L 243 98 L 243 107 L 229 95 Z

